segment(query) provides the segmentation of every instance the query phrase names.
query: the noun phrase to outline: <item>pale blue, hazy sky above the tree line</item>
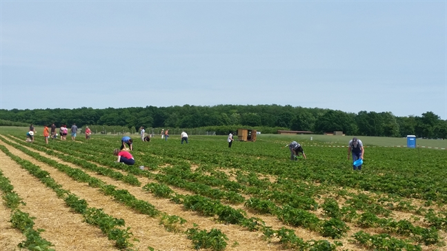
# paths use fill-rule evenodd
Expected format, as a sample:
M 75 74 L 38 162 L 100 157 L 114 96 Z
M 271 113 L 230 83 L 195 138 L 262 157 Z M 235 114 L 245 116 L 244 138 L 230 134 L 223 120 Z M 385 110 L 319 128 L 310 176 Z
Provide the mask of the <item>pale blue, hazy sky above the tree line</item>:
M 0 109 L 277 104 L 447 119 L 446 1 L 0 1 Z

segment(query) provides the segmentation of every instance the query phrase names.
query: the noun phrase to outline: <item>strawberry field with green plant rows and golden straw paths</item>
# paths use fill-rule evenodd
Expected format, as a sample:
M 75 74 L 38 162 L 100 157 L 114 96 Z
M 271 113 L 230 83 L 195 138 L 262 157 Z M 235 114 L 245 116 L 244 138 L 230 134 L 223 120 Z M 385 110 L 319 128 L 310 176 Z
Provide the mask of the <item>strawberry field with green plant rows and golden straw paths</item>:
M 0 249 L 447 249 L 443 150 L 367 146 L 355 171 L 313 141 L 290 161 L 281 139 L 133 138 L 128 166 L 118 136 L 0 134 Z

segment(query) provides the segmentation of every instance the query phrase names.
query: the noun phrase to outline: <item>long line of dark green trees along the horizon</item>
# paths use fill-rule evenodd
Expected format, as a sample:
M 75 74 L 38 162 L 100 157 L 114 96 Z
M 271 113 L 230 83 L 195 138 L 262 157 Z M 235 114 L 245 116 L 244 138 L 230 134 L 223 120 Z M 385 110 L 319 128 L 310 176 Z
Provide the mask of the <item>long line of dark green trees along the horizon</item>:
M 0 110 L 0 118 L 17 123 L 57 126 L 117 125 L 145 128 L 204 128 L 228 125 L 244 127 L 288 128 L 315 134 L 343 131 L 348 135 L 405 137 L 414 134 L 425 138 L 447 138 L 447 121 L 433 112 L 421 116 L 396 117 L 391 112 L 357 114 L 321 108 L 278 105 L 219 106 L 146 106 L 131 108 L 76 108 Z

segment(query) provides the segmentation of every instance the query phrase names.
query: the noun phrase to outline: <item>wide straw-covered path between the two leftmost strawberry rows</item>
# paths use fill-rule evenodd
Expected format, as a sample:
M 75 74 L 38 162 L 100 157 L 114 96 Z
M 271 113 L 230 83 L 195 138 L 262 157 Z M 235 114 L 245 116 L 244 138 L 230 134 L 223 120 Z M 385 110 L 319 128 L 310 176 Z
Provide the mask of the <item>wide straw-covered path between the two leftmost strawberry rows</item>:
M 3 175 L 8 177 L 14 191 L 26 203 L 21 205 L 21 211 L 28 212 L 30 217 L 36 217 L 34 229 L 45 230 L 41 237 L 50 241 L 56 250 L 117 250 L 99 228 L 84 223 L 81 214 L 70 212 L 65 202 L 57 198 L 50 188 L 46 188 L 3 152 L 0 152 L 0 162 Z M 18 244 L 16 238 L 10 239 L 11 244 Z

